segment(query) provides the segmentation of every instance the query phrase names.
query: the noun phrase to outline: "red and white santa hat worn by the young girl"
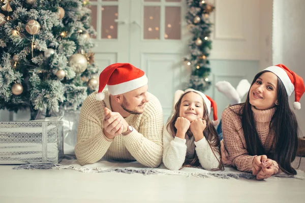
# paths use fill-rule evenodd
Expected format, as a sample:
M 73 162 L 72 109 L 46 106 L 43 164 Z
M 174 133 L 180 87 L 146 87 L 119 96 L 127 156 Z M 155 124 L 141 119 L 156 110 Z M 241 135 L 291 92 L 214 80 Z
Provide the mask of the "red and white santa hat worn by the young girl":
M 198 93 L 200 96 L 202 96 L 203 98 L 203 101 L 207 107 L 207 112 L 208 112 L 208 115 L 210 115 L 211 113 L 211 108 L 213 108 L 213 120 L 211 121 L 212 124 L 214 126 L 218 125 L 219 124 L 219 120 L 218 120 L 218 117 L 217 117 L 217 105 L 216 105 L 216 102 L 209 96 L 205 95 L 204 93 L 200 92 L 200 91 L 197 91 L 197 90 L 194 90 L 194 89 L 186 89 L 185 91 L 182 91 L 182 90 L 177 90 L 175 92 L 175 95 L 174 95 L 174 106 L 176 105 L 177 101 L 179 100 L 180 96 L 186 92 L 190 92 L 190 91 L 193 91 L 193 92 L 196 92 Z

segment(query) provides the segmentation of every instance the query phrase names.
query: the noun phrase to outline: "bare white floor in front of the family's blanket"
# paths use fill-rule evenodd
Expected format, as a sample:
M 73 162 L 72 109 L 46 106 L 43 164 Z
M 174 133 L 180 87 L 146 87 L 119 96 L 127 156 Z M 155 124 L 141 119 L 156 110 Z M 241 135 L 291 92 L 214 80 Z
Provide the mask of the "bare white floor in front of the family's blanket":
M 304 158 L 303 158 L 304 159 Z M 0 202 L 305 202 L 305 180 L 265 181 L 72 170 L 12 170 L 0 165 Z M 302 160 L 302 169 L 305 161 Z

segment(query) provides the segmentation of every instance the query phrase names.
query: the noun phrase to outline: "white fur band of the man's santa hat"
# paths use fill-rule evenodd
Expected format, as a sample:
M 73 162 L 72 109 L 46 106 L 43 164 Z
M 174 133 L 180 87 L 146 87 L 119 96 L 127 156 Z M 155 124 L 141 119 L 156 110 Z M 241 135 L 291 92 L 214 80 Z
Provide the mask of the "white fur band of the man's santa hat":
M 117 85 L 107 85 L 109 93 L 111 95 L 124 94 L 126 92 L 138 89 L 139 87 L 143 87 L 148 82 L 146 75 L 144 74 L 140 78 L 136 78 L 134 80 L 130 80 L 124 83 L 120 83 Z

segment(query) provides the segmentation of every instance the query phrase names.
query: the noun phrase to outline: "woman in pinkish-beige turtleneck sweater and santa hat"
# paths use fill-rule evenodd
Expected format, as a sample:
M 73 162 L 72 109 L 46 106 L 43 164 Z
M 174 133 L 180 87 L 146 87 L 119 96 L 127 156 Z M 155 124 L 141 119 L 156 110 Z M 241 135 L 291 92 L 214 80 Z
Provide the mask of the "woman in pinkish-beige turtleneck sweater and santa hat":
M 283 64 L 255 76 L 246 103 L 222 114 L 225 164 L 252 172 L 258 180 L 281 172 L 296 175 L 291 162 L 296 156 L 298 124 L 288 103 L 294 90 L 293 106 L 300 109 L 303 79 Z

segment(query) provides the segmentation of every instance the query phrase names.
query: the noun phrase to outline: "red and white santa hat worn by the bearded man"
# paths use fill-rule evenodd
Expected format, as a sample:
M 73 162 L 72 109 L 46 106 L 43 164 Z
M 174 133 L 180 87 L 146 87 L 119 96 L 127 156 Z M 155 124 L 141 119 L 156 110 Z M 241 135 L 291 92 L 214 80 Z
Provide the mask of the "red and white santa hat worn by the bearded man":
M 99 91 L 96 99 L 105 98 L 102 92 L 106 84 L 111 95 L 123 94 L 146 85 L 145 73 L 130 63 L 114 63 L 106 67 L 100 74 Z

